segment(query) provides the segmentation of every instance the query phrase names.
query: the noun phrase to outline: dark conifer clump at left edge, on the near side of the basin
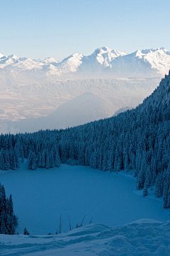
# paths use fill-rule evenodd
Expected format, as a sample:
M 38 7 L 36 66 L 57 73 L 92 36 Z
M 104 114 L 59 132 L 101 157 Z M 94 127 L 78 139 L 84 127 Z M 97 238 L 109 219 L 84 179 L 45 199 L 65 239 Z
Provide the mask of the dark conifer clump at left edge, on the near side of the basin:
M 17 217 L 13 213 L 12 196 L 6 198 L 4 186 L 0 183 L 0 234 L 13 235 Z

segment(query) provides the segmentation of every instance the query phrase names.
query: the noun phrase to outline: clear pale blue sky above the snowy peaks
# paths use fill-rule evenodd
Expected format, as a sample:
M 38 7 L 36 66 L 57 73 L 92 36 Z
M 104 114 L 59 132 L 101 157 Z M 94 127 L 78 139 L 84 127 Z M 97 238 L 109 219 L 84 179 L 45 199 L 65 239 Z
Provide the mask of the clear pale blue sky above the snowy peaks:
M 169 0 L 0 0 L 0 52 L 62 60 L 115 50 L 170 50 Z

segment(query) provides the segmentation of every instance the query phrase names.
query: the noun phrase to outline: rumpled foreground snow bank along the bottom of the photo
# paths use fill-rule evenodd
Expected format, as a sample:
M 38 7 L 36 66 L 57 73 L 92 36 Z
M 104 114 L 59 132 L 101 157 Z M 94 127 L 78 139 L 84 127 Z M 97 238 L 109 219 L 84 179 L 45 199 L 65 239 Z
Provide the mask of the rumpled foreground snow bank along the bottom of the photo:
M 1 255 L 169 256 L 170 221 L 136 221 L 111 228 L 92 224 L 60 235 L 0 235 Z

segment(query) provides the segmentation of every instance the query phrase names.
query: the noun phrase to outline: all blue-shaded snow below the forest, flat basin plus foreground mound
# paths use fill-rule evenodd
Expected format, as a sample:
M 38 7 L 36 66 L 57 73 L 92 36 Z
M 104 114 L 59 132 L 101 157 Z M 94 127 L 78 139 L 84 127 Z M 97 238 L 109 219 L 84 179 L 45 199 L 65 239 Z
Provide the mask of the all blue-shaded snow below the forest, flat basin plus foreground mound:
M 24 163 L 1 171 L 0 181 L 13 196 L 16 231 L 30 232 L 0 235 L 1 255 L 170 255 L 169 209 L 153 191 L 141 196 L 123 172 L 70 165 L 33 171 Z M 64 233 L 47 235 L 55 234 L 60 214 Z M 75 228 L 85 215 L 84 227 L 67 233 L 69 218 Z M 156 221 L 137 221 L 144 218 Z

